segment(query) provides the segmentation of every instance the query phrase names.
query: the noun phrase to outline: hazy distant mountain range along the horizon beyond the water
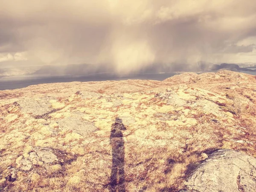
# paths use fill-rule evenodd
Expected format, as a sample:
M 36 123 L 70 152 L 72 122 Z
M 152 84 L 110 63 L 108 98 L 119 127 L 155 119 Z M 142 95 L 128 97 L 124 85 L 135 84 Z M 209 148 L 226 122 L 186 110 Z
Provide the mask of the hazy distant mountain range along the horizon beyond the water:
M 250 69 L 251 68 L 251 69 Z M 161 72 L 198 72 L 198 71 L 256 71 L 255 67 L 239 67 L 238 64 L 222 63 L 220 65 L 206 61 L 198 62 L 198 65 L 188 65 L 182 63 L 154 63 L 142 67 L 140 70 L 132 71 L 130 75 L 145 73 L 161 73 Z M 47 75 L 47 76 L 86 76 L 94 73 L 109 73 L 114 75 L 115 67 L 111 64 L 70 64 L 70 65 L 43 65 L 36 67 L 6 67 L 0 68 L 0 76 L 15 75 Z M 118 76 L 126 76 L 127 73 L 117 74 Z

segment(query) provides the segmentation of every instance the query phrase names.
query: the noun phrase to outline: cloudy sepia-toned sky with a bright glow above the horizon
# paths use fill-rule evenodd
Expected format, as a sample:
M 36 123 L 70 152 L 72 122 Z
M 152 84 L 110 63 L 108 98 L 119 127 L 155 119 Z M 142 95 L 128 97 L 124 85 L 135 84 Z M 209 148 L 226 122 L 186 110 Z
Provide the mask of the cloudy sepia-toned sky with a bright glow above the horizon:
M 0 66 L 256 63 L 255 0 L 0 0 Z

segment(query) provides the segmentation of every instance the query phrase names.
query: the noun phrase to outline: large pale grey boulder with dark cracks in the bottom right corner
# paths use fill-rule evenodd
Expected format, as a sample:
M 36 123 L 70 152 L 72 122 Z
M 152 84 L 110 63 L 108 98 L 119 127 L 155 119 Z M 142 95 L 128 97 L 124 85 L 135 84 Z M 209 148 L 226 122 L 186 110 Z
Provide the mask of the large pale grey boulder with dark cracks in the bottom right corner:
M 256 191 L 256 158 L 233 150 L 215 151 L 185 185 L 191 192 Z

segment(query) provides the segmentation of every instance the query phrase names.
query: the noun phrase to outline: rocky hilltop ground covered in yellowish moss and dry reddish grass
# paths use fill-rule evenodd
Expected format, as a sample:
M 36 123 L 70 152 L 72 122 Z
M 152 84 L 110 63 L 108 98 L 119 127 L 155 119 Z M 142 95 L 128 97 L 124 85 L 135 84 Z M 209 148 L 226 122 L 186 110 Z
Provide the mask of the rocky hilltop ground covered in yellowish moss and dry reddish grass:
M 255 116 L 231 71 L 0 91 L 0 191 L 256 191 Z

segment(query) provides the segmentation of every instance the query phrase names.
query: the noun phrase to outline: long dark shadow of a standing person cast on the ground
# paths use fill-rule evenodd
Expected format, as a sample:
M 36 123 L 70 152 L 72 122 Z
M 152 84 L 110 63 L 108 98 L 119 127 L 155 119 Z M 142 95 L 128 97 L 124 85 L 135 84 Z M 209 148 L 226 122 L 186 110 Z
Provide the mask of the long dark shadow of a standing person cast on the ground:
M 112 146 L 112 169 L 110 192 L 125 192 L 125 146 L 122 131 L 126 130 L 122 119 L 116 118 L 111 125 L 110 143 Z

